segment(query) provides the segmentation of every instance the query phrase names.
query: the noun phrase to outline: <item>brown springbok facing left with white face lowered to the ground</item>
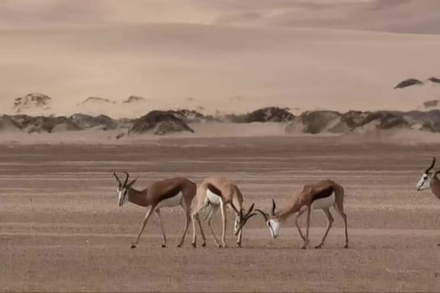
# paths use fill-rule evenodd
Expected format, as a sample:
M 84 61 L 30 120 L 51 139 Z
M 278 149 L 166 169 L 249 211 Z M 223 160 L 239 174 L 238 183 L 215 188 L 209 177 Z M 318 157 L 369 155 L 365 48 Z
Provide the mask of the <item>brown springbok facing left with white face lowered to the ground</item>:
M 331 180 L 324 180 L 314 184 L 305 185 L 303 190 L 295 194 L 284 209 L 275 210 L 275 201 L 272 200 L 272 211 L 270 214 L 260 212 L 273 238 L 278 238 L 280 234 L 280 224 L 284 222 L 290 215 L 297 213 L 295 216 L 295 226 L 298 229 L 301 238 L 304 241 L 302 249 L 308 248 L 308 232 L 310 229 L 310 214 L 313 209 L 321 209 L 327 217 L 327 229 L 322 238 L 321 244 L 316 246 L 316 249 L 322 248 L 324 242 L 329 234 L 330 228 L 333 225 L 334 219 L 331 216 L 330 208 L 333 207 L 342 217 L 345 226 L 345 246 L 348 248 L 348 233 L 347 233 L 347 215 L 344 212 L 344 188 Z M 298 226 L 298 218 L 307 211 L 307 230 L 306 236 Z

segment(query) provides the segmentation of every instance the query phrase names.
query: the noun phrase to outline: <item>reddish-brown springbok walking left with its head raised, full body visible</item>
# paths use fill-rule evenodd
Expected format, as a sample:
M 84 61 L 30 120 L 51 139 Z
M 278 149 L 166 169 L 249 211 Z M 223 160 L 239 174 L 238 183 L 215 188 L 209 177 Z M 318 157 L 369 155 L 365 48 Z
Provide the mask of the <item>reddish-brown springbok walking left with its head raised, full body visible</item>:
M 175 177 L 154 182 L 142 191 L 138 191 L 132 188 L 138 178 L 128 183 L 130 175 L 127 172 L 125 172 L 125 174 L 127 177 L 125 178 L 124 183 L 122 183 L 116 173 L 113 173 L 114 178 L 118 183 L 117 193 L 119 207 L 122 207 L 127 201 L 141 207 L 150 207 L 145 215 L 144 221 L 142 222 L 142 228 L 137 235 L 136 241 L 132 244 L 132 248 L 136 248 L 136 245 L 139 243 L 140 236 L 153 212 L 159 220 L 160 230 L 162 231 L 162 247 L 166 247 L 167 238 L 165 236 L 160 209 L 177 206 L 182 207 L 186 215 L 185 228 L 179 245 L 177 246 L 181 247 L 191 222 L 191 203 L 196 196 L 196 184 L 186 178 Z

